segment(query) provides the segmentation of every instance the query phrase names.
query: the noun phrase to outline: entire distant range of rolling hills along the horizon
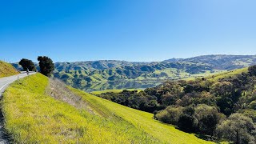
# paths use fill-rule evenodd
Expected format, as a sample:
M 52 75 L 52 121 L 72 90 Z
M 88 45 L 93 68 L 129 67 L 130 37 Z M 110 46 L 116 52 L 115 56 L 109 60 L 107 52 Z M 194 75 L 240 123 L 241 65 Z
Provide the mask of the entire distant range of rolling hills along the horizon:
M 203 55 L 194 58 L 171 58 L 163 62 L 126 62 L 100 60 L 56 62 L 54 77 L 71 86 L 88 82 L 120 80 L 166 80 L 202 77 L 221 70 L 234 70 L 256 64 L 256 55 Z M 38 64 L 35 64 L 38 68 Z M 21 70 L 18 63 L 14 67 Z

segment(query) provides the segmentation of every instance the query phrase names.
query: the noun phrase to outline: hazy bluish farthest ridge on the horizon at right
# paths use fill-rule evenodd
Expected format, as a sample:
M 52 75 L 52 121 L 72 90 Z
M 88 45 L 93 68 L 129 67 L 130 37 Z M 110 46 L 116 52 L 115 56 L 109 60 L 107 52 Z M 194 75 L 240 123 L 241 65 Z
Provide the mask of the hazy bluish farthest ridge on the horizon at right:
M 174 62 L 175 58 L 163 62 Z M 234 70 L 256 64 L 256 55 L 202 55 L 194 58 L 178 58 L 176 62 L 202 62 L 217 70 Z

